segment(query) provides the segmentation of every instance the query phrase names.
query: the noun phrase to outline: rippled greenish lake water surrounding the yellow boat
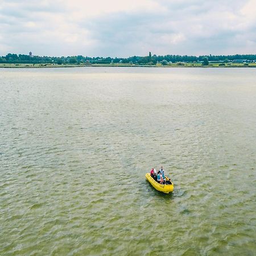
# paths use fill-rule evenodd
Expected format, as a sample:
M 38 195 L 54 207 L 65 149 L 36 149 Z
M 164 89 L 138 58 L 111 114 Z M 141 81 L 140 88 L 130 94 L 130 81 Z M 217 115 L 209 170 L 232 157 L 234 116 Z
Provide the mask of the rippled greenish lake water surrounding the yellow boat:
M 1 69 L 0 135 L 0 255 L 256 255 L 256 69 Z

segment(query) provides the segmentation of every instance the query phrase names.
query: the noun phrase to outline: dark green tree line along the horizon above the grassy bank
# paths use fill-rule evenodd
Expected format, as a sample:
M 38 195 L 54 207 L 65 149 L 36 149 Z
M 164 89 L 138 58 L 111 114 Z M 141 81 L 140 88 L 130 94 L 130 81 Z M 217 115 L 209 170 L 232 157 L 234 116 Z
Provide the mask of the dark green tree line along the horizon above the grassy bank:
M 67 56 L 67 57 L 49 57 L 49 56 L 30 56 L 23 54 L 8 53 L 6 56 L 0 57 L 0 63 L 53 63 L 53 64 L 110 64 L 110 63 L 132 63 L 140 65 L 155 65 L 162 63 L 196 63 L 202 62 L 207 65 L 208 61 L 224 61 L 229 62 L 233 60 L 256 60 L 256 55 L 204 55 L 204 56 L 188 56 L 188 55 L 151 55 L 148 56 L 132 56 L 128 58 L 119 57 L 88 57 L 88 56 Z

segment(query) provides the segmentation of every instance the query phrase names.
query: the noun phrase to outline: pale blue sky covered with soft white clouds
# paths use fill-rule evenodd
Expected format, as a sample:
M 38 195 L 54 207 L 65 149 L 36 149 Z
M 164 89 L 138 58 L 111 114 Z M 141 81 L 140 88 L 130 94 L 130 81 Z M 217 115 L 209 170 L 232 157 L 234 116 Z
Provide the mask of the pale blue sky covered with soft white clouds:
M 256 54 L 256 0 L 0 0 L 0 56 Z

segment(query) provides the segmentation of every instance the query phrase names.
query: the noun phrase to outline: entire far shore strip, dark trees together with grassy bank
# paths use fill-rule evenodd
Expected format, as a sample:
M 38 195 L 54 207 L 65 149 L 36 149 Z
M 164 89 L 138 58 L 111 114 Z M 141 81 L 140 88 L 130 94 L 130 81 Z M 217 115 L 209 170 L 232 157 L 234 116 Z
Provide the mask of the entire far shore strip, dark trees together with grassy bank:
M 8 53 L 0 57 L 0 68 L 52 67 L 256 67 L 256 55 L 164 55 L 119 57 L 49 57 Z

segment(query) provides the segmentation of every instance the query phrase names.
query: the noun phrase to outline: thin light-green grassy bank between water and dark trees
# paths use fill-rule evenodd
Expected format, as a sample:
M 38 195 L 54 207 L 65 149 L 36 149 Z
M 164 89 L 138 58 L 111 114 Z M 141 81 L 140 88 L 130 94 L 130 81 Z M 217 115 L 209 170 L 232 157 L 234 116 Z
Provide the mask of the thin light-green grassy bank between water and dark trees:
M 74 68 L 74 67 L 161 67 L 161 68 L 256 68 L 256 63 L 209 63 L 203 66 L 201 63 L 171 63 L 168 65 L 138 65 L 129 63 L 112 63 L 112 64 L 3 64 L 0 68 Z

